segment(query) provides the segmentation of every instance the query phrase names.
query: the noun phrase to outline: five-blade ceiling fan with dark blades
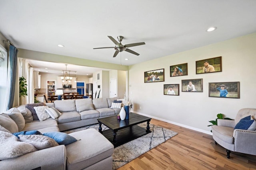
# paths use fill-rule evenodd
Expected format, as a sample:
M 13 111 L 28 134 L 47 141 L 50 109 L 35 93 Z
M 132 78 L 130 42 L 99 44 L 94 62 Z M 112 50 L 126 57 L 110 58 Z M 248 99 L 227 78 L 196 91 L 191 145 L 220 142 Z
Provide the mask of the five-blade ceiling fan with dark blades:
M 121 41 L 122 39 L 124 38 L 123 36 L 118 36 L 117 39 L 119 41 L 116 41 L 113 37 L 111 36 L 108 36 L 109 39 L 111 39 L 111 41 L 113 41 L 113 43 L 115 43 L 115 47 L 100 47 L 100 48 L 94 48 L 94 49 L 110 49 L 110 48 L 114 48 L 116 50 L 116 52 L 114 53 L 114 56 L 113 57 L 116 57 L 116 55 L 119 53 L 119 52 L 122 52 L 122 51 L 127 51 L 129 53 L 132 53 L 134 55 L 140 55 L 138 53 L 136 53 L 135 51 L 132 51 L 130 49 L 128 49 L 127 47 L 134 47 L 134 46 L 138 46 L 138 45 L 144 45 L 145 43 L 142 42 L 142 43 L 132 43 L 132 44 L 126 44 L 126 45 L 122 45 Z

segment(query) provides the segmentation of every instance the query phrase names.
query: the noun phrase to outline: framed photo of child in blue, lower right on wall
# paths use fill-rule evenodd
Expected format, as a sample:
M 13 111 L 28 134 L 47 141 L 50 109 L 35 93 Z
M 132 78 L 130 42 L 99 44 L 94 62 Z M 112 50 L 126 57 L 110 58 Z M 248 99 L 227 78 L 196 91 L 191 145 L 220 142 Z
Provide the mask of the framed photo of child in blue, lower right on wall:
M 209 97 L 240 98 L 239 82 L 209 83 Z

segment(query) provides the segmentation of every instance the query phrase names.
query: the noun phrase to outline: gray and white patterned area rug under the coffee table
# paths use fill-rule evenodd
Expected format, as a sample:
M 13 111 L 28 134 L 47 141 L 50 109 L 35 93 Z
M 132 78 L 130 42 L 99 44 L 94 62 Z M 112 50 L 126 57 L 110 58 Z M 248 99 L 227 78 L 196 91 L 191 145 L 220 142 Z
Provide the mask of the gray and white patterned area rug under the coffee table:
M 138 124 L 138 126 L 146 129 L 147 123 Z M 71 129 L 67 131 L 63 131 L 64 133 L 72 133 L 76 131 L 82 131 L 88 128 L 99 128 L 98 124 L 88 125 L 84 127 L 79 127 L 76 129 Z M 102 131 L 107 130 L 108 127 L 102 125 Z M 157 147 L 161 143 L 164 143 L 171 137 L 177 135 L 177 132 L 171 131 L 169 129 L 150 124 L 151 133 L 148 133 L 142 137 L 134 139 L 124 145 L 114 148 L 113 157 L 113 170 L 120 168 L 121 166 L 127 164 L 131 160 L 137 158 L 138 156 L 148 152 L 149 150 Z

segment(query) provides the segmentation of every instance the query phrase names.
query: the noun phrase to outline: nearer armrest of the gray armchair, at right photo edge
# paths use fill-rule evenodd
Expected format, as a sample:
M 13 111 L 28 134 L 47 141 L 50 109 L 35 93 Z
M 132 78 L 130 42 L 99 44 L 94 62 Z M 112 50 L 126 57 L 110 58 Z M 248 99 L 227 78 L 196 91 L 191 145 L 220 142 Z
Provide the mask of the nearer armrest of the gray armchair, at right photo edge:
M 256 131 L 235 129 L 233 137 L 235 152 L 256 155 Z

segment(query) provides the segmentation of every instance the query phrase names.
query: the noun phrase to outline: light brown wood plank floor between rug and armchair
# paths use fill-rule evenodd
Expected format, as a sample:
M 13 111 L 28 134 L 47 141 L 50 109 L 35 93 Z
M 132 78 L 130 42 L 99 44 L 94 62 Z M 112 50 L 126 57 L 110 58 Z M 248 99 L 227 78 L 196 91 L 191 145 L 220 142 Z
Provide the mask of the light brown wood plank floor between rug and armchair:
M 150 123 L 178 135 L 118 170 L 256 170 L 256 156 L 231 152 L 228 159 L 226 149 L 215 145 L 211 135 L 156 119 Z

